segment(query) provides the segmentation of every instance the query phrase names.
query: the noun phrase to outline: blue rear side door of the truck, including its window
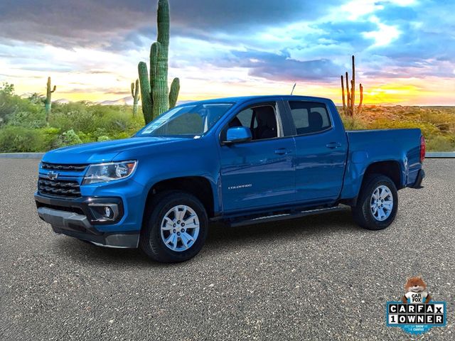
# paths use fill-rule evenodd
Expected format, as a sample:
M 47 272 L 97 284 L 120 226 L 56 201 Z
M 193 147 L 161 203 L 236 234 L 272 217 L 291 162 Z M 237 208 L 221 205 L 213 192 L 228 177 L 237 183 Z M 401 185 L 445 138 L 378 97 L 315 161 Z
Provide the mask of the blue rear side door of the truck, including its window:
M 336 200 L 341 193 L 348 151 L 341 121 L 331 116 L 326 103 L 287 103 L 296 129 L 296 201 Z

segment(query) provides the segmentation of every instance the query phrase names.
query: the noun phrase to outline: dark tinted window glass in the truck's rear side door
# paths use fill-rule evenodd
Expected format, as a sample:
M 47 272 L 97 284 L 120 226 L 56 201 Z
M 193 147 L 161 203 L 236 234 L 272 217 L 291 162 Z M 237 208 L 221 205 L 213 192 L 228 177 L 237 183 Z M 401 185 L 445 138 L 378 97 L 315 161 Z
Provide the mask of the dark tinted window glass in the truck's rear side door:
M 316 102 L 289 102 L 297 135 L 312 134 L 331 127 L 326 106 Z

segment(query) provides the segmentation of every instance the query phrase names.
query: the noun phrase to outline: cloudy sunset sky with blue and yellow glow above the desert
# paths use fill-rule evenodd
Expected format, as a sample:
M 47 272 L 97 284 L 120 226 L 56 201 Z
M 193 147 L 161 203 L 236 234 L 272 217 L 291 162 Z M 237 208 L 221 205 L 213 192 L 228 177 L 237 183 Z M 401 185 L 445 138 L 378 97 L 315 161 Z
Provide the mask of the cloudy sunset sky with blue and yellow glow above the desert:
M 1 0 L 0 83 L 102 102 L 129 96 L 156 40 L 156 0 Z M 295 94 L 455 105 L 455 0 L 169 0 L 180 100 Z

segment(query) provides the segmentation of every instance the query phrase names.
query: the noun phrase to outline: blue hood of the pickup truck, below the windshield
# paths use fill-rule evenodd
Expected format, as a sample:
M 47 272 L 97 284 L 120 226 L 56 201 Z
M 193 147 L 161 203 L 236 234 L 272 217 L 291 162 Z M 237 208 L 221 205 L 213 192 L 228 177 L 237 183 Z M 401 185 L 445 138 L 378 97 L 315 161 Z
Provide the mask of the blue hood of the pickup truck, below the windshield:
M 77 144 L 48 151 L 43 156 L 44 162 L 50 163 L 101 163 L 109 162 L 120 152 L 137 147 L 169 144 L 185 139 L 168 137 L 132 137 L 114 141 Z

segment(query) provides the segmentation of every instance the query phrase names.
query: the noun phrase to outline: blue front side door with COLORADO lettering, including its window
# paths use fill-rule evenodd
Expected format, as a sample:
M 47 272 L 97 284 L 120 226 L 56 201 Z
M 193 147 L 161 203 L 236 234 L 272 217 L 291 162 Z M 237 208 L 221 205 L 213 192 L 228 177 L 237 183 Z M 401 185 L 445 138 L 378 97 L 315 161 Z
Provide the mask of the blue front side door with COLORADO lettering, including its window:
M 295 200 L 295 144 L 284 137 L 277 102 L 240 109 L 223 129 L 251 129 L 253 139 L 221 145 L 221 190 L 225 212 L 285 205 Z

